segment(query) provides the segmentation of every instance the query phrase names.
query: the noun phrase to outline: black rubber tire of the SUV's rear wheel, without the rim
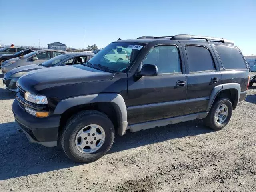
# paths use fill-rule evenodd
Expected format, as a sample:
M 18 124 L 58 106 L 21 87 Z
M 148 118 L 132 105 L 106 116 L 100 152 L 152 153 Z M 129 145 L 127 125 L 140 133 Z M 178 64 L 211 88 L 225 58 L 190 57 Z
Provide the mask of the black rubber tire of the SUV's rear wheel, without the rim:
M 220 105 L 225 104 L 228 107 L 228 116 L 226 120 L 222 124 L 218 124 L 215 121 L 215 113 L 218 107 Z M 221 130 L 223 129 L 229 122 L 231 116 L 232 116 L 233 108 L 232 103 L 228 98 L 220 98 L 214 104 L 212 105 L 212 108 L 210 109 L 209 114 L 206 116 L 206 118 L 203 119 L 203 122 L 206 126 L 214 129 L 214 130 Z

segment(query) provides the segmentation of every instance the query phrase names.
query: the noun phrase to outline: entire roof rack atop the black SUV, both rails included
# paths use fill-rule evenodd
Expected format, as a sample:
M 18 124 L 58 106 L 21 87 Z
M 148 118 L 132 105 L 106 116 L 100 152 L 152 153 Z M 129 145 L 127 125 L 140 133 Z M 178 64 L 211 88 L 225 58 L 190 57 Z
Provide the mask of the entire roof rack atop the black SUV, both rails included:
M 234 45 L 234 42 L 227 39 L 215 38 L 215 37 L 207 37 L 207 36 L 196 36 L 196 35 L 175 35 L 175 36 L 162 36 L 162 37 L 153 37 L 153 36 L 142 36 L 138 39 L 160 39 L 160 38 L 168 38 L 170 40 L 197 40 L 204 39 L 208 42 L 221 42 L 226 44 Z

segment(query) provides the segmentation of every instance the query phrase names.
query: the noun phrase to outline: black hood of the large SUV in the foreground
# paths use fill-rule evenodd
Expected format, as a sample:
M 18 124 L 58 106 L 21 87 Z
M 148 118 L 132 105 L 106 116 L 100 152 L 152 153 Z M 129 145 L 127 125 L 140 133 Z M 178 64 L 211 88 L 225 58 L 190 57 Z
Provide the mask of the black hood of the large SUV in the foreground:
M 83 65 L 47 67 L 28 72 L 18 80 L 26 91 L 36 93 L 47 88 L 84 82 L 111 80 L 114 74 Z

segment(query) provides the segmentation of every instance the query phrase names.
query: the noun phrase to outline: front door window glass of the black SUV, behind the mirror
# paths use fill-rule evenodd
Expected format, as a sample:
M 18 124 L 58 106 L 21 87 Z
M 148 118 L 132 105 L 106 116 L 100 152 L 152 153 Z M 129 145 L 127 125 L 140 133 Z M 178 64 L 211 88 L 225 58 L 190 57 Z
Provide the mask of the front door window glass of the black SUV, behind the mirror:
M 181 72 L 180 57 L 176 46 L 154 47 L 148 52 L 142 64 L 156 65 L 159 74 Z

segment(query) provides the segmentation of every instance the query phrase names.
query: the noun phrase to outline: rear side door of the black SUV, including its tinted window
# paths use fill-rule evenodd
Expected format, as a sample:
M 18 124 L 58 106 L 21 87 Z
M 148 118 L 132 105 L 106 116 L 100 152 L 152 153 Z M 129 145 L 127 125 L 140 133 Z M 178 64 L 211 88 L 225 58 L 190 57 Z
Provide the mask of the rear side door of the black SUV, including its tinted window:
M 222 83 L 217 60 L 208 42 L 180 42 L 187 74 L 185 114 L 206 111 L 210 94 Z

